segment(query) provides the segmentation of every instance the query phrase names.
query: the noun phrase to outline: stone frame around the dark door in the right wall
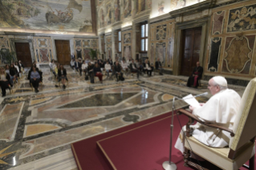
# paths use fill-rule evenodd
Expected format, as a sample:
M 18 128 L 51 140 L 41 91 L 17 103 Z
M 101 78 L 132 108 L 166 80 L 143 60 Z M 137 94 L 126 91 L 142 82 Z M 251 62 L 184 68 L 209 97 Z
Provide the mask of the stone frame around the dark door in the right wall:
M 173 50 L 173 75 L 180 75 L 181 58 L 182 58 L 182 30 L 196 28 L 201 26 L 201 45 L 199 54 L 199 63 L 204 68 L 205 55 L 207 51 L 208 34 L 209 34 L 210 17 L 199 18 L 189 22 L 177 22 L 175 24 L 175 38 Z

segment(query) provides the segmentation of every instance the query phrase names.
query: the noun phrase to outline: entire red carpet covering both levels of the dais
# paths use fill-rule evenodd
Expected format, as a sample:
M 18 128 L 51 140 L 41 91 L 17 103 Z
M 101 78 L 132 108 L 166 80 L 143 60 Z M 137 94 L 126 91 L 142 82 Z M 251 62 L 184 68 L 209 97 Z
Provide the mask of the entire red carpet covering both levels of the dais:
M 162 170 L 162 163 L 169 159 L 170 115 L 170 113 L 158 115 L 71 144 L 78 168 L 83 170 L 113 169 L 104 153 L 97 147 L 96 142 L 99 141 L 100 146 L 104 148 L 104 152 L 118 170 Z M 179 115 L 179 117 L 181 124 L 185 125 L 188 118 L 185 115 Z M 173 145 L 180 131 L 181 127 L 178 125 L 176 115 Z M 181 152 L 178 152 L 176 148 L 173 148 L 173 162 L 177 164 L 178 170 L 191 169 L 183 166 Z M 202 165 L 209 169 L 219 169 L 207 162 Z

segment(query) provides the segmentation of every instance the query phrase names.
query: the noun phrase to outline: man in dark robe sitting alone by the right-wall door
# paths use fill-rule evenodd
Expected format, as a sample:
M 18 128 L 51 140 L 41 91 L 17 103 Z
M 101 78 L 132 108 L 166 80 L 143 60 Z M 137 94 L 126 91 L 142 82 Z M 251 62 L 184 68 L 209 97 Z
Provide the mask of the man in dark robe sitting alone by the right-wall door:
M 200 66 L 200 63 L 197 62 L 197 67 L 193 69 L 192 75 L 188 79 L 187 87 L 195 87 L 197 88 L 199 83 L 199 79 L 201 79 L 201 75 L 203 74 L 203 67 Z

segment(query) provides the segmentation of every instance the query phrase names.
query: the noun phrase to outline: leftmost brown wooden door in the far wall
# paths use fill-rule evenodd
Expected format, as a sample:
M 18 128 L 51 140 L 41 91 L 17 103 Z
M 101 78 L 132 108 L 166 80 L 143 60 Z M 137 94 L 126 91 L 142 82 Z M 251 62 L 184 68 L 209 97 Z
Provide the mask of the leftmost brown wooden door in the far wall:
M 29 42 L 15 42 L 17 60 L 21 60 L 24 67 L 32 66 Z

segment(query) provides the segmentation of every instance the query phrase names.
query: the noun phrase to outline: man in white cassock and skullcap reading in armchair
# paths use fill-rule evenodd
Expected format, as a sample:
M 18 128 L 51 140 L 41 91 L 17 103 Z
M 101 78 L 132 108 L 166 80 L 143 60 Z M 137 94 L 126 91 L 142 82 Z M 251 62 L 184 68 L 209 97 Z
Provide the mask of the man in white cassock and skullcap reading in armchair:
M 241 101 L 240 95 L 227 88 L 226 79 L 222 76 L 209 79 L 208 88 L 213 96 L 206 103 L 201 103 L 201 107 L 190 106 L 189 109 L 201 121 L 215 123 L 233 130 L 234 119 Z M 201 123 L 190 125 L 190 127 L 193 128 L 192 136 L 209 147 L 224 148 L 230 143 L 230 132 L 206 127 Z M 183 130 L 185 132 L 185 127 Z M 183 153 L 185 151 L 184 142 L 185 138 L 181 132 L 174 147 Z

